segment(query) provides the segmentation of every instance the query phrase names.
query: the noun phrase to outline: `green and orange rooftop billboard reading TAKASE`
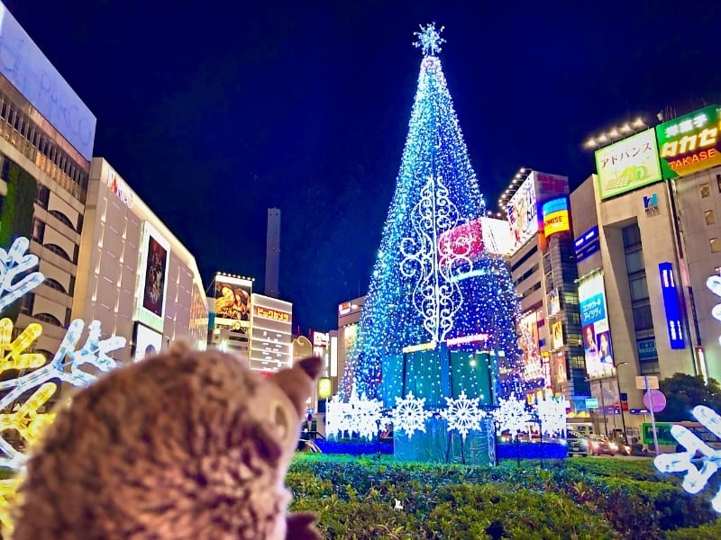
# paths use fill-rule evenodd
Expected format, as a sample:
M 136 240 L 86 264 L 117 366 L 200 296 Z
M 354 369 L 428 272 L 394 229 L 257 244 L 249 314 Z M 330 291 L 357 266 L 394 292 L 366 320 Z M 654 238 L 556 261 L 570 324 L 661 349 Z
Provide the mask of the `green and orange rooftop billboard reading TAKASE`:
M 665 179 L 721 165 L 721 107 L 709 105 L 656 126 Z

